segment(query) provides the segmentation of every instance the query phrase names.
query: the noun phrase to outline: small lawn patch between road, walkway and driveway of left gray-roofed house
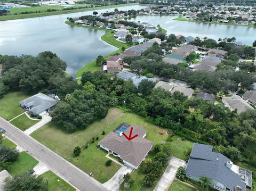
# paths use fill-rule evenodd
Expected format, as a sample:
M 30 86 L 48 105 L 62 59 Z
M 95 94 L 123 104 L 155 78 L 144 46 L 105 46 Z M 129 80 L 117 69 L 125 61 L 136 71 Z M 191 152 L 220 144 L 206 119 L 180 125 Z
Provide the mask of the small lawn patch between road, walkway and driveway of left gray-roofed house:
M 25 131 L 31 126 L 34 126 L 34 124 L 38 123 L 38 120 L 31 120 L 27 117 L 26 114 L 20 115 L 20 117 L 14 119 L 11 121 L 11 123 L 15 126 L 18 127 L 20 130 Z

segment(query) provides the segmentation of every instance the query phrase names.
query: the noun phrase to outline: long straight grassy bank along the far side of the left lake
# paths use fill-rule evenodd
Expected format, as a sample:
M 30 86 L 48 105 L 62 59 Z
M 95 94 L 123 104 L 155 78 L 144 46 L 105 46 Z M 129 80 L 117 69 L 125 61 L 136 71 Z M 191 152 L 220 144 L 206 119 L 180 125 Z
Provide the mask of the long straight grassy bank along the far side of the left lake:
M 36 17 L 42 17 L 42 16 L 52 16 L 52 15 L 59 15 L 59 14 L 78 13 L 78 12 L 85 12 L 85 11 L 97 11 L 97 10 L 102 10 L 102 9 L 111 9 L 111 8 L 125 7 L 125 6 L 132 6 L 132 5 L 140 5 L 140 4 L 138 4 L 138 3 L 128 3 L 128 4 L 119 4 L 119 5 L 110 5 L 110 7 L 109 6 L 100 6 L 100 7 L 89 7 L 89 8 L 79 9 L 79 10 L 75 9 L 75 10 L 66 10 L 66 11 L 5 15 L 5 16 L 0 16 L 0 21 L 9 21 L 9 20 L 16 20 L 16 19 L 28 19 L 28 18 L 36 18 Z

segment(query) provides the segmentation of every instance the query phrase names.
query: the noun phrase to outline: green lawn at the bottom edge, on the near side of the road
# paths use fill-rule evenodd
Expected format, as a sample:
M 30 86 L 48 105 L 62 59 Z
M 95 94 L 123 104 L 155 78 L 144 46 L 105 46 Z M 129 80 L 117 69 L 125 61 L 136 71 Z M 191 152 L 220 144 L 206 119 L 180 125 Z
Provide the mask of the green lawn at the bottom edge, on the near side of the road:
M 48 180 L 48 191 L 75 191 L 76 189 L 70 186 L 65 180 L 55 175 L 52 171 L 47 171 L 40 175 L 43 178 L 43 182 L 47 184 Z M 59 180 L 59 181 L 58 181 Z

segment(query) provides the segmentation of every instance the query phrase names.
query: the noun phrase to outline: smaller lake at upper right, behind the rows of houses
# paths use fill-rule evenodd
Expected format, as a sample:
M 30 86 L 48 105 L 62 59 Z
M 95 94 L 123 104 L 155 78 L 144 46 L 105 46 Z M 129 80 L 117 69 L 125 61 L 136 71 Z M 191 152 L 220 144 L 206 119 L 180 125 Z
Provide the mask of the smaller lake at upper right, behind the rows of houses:
M 132 21 L 149 22 L 154 26 L 160 26 L 167 30 L 167 34 L 208 37 L 215 40 L 225 37 L 236 37 L 237 41 L 242 41 L 247 45 L 252 45 L 256 40 L 256 27 L 230 26 L 225 24 L 208 24 L 187 21 L 175 21 L 176 16 L 137 16 Z

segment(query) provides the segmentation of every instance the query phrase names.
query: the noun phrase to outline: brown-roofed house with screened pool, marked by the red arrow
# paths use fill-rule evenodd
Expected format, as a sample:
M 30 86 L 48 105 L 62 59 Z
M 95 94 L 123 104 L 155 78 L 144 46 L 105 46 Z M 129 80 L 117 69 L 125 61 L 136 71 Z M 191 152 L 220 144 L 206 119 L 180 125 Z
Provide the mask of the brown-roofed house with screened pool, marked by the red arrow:
M 127 140 L 123 136 L 123 132 L 129 136 L 131 128 L 133 128 L 132 136 L 137 134 L 138 136 L 132 140 Z M 100 140 L 98 145 L 122 159 L 125 165 L 137 169 L 154 144 L 144 138 L 146 134 L 147 131 L 142 127 L 122 123 L 116 130 L 109 132 L 107 136 Z

